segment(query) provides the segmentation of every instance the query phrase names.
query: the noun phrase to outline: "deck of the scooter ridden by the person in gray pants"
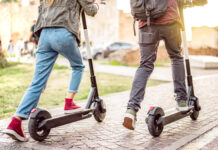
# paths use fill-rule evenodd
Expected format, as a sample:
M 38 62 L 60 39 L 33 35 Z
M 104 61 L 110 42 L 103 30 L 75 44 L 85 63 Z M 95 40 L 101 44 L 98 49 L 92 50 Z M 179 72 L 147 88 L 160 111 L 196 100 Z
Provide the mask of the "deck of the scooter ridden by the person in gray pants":
M 188 111 L 182 112 L 182 111 L 178 111 L 176 108 L 174 109 L 170 109 L 168 111 L 166 111 L 166 115 L 163 116 L 162 118 L 162 122 L 163 125 L 169 124 L 171 122 L 174 122 L 176 120 L 182 119 L 186 116 L 189 116 L 192 113 L 192 110 L 194 109 L 194 107 L 190 107 L 190 109 Z

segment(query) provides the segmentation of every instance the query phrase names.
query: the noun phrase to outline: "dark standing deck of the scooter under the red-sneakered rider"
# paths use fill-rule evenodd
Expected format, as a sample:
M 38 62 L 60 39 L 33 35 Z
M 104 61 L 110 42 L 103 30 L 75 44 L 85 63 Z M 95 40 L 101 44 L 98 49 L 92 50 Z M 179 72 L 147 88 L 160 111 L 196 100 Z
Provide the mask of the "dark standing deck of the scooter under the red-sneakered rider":
M 86 119 L 92 116 L 93 109 L 80 109 L 75 110 L 70 114 L 56 115 L 53 118 L 46 119 L 39 124 L 38 128 L 51 129 L 58 126 L 62 126 L 71 122 Z

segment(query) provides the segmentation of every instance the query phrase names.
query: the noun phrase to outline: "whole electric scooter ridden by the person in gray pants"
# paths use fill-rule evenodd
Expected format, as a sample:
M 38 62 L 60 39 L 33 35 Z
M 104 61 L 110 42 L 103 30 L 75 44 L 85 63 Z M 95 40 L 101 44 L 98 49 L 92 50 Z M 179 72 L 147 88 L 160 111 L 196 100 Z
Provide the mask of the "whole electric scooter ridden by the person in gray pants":
M 183 40 L 185 65 L 186 65 L 186 73 L 187 73 L 187 83 L 188 83 L 187 98 L 188 98 L 189 110 L 186 112 L 180 112 L 174 109 L 168 111 L 165 115 L 161 107 L 151 106 L 148 111 L 148 117 L 145 119 L 145 121 L 147 123 L 148 130 L 153 137 L 158 137 L 162 133 L 165 125 L 177 121 L 179 119 L 182 119 L 184 117 L 190 116 L 192 120 L 197 120 L 199 116 L 199 111 L 201 110 L 201 106 L 199 105 L 199 100 L 194 94 L 194 86 L 192 82 L 192 75 L 191 75 L 189 54 L 188 54 L 188 45 L 186 40 L 183 8 L 184 6 L 180 7 L 180 17 L 183 23 L 182 40 Z

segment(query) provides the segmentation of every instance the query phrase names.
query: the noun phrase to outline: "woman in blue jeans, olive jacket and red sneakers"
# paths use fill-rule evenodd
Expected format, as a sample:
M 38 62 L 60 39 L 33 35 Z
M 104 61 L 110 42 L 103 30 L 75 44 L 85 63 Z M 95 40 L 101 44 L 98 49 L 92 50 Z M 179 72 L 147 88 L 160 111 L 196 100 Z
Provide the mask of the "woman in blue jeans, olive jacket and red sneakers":
M 84 9 L 87 15 L 94 16 L 99 8 L 97 0 L 45 0 L 40 2 L 39 16 L 35 25 L 35 34 L 39 36 L 36 52 L 36 67 L 32 83 L 24 94 L 17 111 L 5 133 L 18 141 L 27 141 L 22 130 L 22 120 L 28 119 L 32 109 L 36 108 L 40 95 L 59 54 L 70 62 L 72 77 L 65 98 L 65 113 L 80 108 L 73 102 L 78 92 L 84 65 L 80 55 L 80 13 Z

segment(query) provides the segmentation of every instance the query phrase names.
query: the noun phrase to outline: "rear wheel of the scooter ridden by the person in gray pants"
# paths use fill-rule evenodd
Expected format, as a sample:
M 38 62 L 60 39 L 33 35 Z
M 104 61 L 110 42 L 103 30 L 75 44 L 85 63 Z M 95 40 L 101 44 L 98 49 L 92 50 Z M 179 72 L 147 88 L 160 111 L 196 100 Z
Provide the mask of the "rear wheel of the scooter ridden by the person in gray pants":
M 157 120 L 161 117 L 160 115 L 152 116 L 149 115 L 147 118 L 148 131 L 153 137 L 158 137 L 163 131 L 163 124 L 157 125 Z

